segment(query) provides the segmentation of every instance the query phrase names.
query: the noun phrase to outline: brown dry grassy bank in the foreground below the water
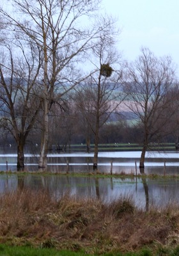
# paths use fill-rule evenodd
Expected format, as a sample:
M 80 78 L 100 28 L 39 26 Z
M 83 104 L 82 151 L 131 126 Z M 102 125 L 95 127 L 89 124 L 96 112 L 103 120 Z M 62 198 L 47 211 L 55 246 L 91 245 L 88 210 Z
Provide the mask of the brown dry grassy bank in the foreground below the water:
M 38 252 L 25 255 L 47 255 L 40 249 L 70 250 L 74 255 L 179 255 L 175 205 L 145 212 L 131 198 L 111 204 L 68 195 L 57 200 L 47 191 L 27 189 L 1 196 L 0 205 L 0 243 Z M 0 255 L 12 255 L 5 254 L 3 246 Z

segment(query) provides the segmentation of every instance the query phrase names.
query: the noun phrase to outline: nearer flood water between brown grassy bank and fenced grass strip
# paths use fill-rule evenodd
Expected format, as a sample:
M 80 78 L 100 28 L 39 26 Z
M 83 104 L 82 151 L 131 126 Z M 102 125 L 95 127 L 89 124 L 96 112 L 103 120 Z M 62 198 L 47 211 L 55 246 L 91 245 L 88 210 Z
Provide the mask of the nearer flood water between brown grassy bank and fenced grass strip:
M 112 202 L 129 196 L 137 207 L 148 209 L 164 207 L 167 204 L 179 204 L 179 180 L 176 177 L 150 179 L 149 177 L 111 177 L 97 178 L 92 175 L 75 177 L 68 175 L 31 174 L 0 175 L 0 193 L 19 189 L 45 189 L 52 196 L 60 198 L 68 193 L 80 198 L 97 198 L 103 202 Z

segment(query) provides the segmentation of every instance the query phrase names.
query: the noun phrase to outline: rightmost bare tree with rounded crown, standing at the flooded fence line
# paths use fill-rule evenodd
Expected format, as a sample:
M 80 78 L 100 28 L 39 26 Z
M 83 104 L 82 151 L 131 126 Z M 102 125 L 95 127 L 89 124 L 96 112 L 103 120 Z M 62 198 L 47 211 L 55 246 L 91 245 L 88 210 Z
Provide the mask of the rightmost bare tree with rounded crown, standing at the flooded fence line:
M 139 167 L 144 171 L 144 159 L 150 142 L 164 131 L 171 114 L 166 116 L 173 97 L 166 97 L 175 83 L 175 68 L 168 56 L 157 58 L 146 48 L 136 61 L 127 65 L 127 76 L 123 77 L 127 100 L 125 104 L 138 118 L 141 125 L 143 150 Z

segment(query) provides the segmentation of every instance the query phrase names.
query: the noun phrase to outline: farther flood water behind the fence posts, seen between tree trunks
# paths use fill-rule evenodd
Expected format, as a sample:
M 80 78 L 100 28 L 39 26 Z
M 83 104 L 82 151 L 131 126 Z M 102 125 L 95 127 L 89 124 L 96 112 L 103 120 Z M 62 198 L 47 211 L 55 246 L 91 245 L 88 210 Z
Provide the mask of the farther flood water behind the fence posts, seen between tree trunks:
M 104 173 L 139 174 L 140 151 L 99 152 L 98 170 Z M 0 154 L 0 170 L 16 171 L 17 154 Z M 27 171 L 38 170 L 38 154 L 25 154 Z M 92 172 L 93 153 L 48 154 L 47 171 Z M 179 174 L 179 152 L 147 152 L 145 173 L 157 175 Z

